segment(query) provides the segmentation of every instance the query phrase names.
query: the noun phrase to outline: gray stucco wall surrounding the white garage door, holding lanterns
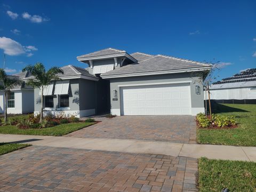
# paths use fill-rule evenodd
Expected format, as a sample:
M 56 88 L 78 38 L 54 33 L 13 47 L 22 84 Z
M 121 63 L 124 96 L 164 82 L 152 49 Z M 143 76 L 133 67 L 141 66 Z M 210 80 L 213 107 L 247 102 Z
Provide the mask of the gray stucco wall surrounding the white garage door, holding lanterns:
M 192 81 L 190 83 L 191 90 L 191 107 L 192 108 L 203 108 L 203 85 L 199 81 L 199 77 L 193 73 L 179 73 L 179 74 L 165 74 L 165 75 L 149 75 L 149 76 L 138 76 L 138 77 L 123 77 L 110 79 L 110 99 L 111 109 L 120 109 L 120 87 L 118 85 L 129 85 L 129 84 L 146 84 L 146 83 L 166 83 L 166 82 L 182 82 Z M 195 93 L 195 85 L 199 85 L 201 88 L 201 94 Z M 117 90 L 117 101 L 113 101 L 113 90 Z

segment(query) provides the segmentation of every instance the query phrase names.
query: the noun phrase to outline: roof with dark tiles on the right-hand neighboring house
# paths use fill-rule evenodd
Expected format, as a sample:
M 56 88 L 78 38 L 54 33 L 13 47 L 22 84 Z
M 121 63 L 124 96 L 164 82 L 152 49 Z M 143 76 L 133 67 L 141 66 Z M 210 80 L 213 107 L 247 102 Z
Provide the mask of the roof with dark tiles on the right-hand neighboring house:
M 256 86 L 256 68 L 241 71 L 228 78 L 223 78 L 221 81 L 214 82 L 211 89 L 227 89 L 234 87 Z

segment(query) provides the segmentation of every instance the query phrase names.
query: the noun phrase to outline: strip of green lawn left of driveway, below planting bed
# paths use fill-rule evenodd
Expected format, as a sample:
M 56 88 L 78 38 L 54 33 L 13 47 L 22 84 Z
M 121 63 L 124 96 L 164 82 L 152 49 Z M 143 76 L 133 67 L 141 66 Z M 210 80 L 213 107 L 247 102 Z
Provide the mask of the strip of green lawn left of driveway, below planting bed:
M 67 123 L 43 129 L 18 129 L 16 126 L 6 125 L 0 126 L 0 133 L 62 136 L 92 124 L 94 123 Z

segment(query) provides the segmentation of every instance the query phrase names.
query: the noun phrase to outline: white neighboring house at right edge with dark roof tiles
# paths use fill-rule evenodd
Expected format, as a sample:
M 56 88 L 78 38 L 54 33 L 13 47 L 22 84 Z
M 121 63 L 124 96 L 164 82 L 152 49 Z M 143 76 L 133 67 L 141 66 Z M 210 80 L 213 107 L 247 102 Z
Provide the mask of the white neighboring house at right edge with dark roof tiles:
M 213 83 L 210 92 L 218 103 L 256 103 L 256 68 Z

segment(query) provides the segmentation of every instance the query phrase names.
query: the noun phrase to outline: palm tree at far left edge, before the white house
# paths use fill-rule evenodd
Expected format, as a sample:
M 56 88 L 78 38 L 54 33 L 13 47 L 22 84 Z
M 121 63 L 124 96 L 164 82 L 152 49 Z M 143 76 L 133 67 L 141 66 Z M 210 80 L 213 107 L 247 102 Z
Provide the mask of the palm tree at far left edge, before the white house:
M 7 122 L 7 95 L 15 85 L 21 83 L 19 77 L 6 75 L 3 68 L 0 68 L 0 90 L 4 92 L 4 122 Z

